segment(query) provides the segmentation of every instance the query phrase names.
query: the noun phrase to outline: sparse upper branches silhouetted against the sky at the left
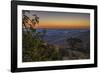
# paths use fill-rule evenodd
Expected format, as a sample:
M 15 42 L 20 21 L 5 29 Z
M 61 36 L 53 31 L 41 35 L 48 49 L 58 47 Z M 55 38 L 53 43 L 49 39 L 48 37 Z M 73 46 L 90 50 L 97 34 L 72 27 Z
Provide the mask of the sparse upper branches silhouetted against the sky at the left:
M 22 25 L 23 25 L 23 28 L 26 29 L 27 32 L 30 32 L 29 30 L 32 30 L 33 32 L 36 31 L 36 29 L 34 28 L 36 24 L 39 24 L 39 17 L 34 14 L 33 15 L 33 18 L 30 19 L 26 14 L 25 12 L 28 12 L 30 13 L 30 11 L 23 11 L 23 16 L 22 16 Z M 28 30 L 29 29 L 29 30 Z

